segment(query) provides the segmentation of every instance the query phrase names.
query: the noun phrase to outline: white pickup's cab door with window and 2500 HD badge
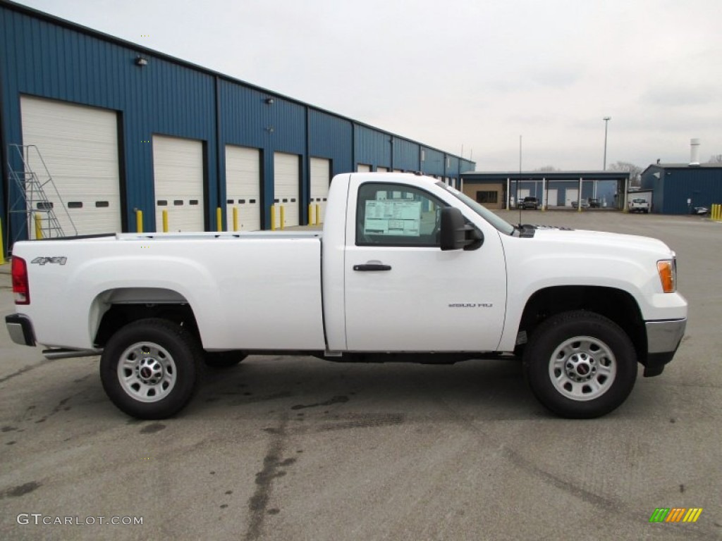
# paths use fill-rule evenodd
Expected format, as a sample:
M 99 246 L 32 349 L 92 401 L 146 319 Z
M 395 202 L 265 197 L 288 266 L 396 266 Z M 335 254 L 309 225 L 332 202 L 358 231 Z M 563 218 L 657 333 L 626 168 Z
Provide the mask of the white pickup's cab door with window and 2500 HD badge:
M 497 348 L 506 271 L 496 229 L 474 214 L 482 246 L 442 252 L 439 209 L 446 205 L 435 195 L 401 182 L 352 179 L 348 204 L 355 216 L 347 221 L 344 263 L 349 351 Z

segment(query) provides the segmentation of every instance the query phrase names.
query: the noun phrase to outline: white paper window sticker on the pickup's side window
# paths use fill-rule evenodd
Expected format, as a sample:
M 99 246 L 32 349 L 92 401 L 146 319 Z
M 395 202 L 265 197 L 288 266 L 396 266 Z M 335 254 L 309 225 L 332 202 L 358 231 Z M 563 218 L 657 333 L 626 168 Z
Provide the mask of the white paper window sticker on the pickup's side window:
M 366 201 L 364 234 L 419 237 L 421 201 Z

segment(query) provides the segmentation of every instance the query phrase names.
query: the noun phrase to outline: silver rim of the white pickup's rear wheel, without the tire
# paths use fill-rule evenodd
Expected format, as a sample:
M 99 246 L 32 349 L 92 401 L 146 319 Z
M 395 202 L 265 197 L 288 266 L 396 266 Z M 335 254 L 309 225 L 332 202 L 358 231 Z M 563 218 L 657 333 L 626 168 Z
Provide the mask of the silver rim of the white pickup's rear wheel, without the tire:
M 177 377 L 173 356 L 156 343 L 134 343 L 118 361 L 118 382 L 123 391 L 139 402 L 157 402 L 167 397 Z

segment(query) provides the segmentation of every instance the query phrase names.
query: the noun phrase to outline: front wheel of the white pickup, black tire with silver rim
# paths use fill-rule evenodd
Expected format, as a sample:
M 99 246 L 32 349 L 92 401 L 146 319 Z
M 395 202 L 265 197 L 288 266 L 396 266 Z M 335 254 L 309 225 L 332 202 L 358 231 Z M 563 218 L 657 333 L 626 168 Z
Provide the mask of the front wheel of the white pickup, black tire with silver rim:
M 549 317 L 524 350 L 536 398 L 562 417 L 588 419 L 621 405 L 637 379 L 637 355 L 619 325 L 578 310 Z

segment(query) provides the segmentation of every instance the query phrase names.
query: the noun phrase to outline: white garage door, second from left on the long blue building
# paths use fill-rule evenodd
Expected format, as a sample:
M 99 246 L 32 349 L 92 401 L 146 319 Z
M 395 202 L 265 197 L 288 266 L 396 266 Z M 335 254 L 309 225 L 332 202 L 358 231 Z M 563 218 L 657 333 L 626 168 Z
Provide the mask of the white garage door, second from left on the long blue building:
M 153 136 L 155 227 L 168 231 L 203 231 L 203 144 L 178 137 Z

